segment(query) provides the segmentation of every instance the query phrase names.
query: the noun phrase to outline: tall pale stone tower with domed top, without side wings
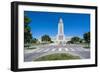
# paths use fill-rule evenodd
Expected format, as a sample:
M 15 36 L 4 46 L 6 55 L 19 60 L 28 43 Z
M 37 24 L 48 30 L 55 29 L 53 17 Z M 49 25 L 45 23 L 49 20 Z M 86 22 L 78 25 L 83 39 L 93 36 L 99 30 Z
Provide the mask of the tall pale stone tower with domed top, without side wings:
M 65 44 L 64 24 L 62 18 L 60 18 L 58 23 L 57 43 Z

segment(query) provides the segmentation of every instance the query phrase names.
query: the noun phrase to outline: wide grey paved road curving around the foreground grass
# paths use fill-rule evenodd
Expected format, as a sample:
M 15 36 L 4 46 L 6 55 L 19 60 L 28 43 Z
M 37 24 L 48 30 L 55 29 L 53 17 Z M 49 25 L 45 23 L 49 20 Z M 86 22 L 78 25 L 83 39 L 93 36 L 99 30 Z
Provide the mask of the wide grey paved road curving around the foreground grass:
M 66 45 L 66 46 L 42 46 L 38 49 L 25 50 L 24 61 L 33 61 L 41 56 L 53 54 L 53 53 L 69 53 L 79 56 L 81 59 L 90 58 L 90 49 L 82 48 L 82 45 Z

